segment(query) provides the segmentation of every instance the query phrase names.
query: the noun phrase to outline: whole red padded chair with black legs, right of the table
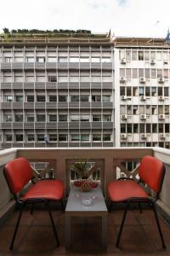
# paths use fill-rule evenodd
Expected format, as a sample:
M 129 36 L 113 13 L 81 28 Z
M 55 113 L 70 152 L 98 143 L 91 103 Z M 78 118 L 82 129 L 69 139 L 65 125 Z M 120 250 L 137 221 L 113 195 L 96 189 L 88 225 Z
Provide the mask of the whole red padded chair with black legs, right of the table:
M 122 228 L 127 216 L 127 210 L 129 209 L 130 205 L 137 203 L 139 204 L 139 207 L 141 207 L 142 203 L 148 203 L 155 214 L 157 228 L 161 236 L 162 247 L 166 248 L 155 207 L 155 202 L 159 196 L 159 193 L 161 192 L 161 185 L 163 183 L 164 175 L 165 168 L 160 160 L 152 156 L 144 156 L 139 166 L 139 183 L 143 183 L 155 191 L 155 197 L 150 197 L 150 195 L 145 192 L 143 187 L 131 178 L 123 177 L 109 183 L 108 192 L 111 198 L 111 207 L 113 203 L 126 203 L 122 224 L 116 240 L 116 247 L 119 246 L 119 241 L 122 235 Z

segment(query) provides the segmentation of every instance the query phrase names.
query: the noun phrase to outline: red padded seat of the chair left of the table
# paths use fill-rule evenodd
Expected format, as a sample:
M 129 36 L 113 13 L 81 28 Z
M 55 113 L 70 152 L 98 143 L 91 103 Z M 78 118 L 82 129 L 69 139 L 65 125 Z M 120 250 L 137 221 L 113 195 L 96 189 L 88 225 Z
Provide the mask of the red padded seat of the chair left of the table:
M 45 179 L 40 180 L 31 186 L 24 195 L 23 200 L 31 199 L 46 199 L 57 201 L 63 198 L 64 195 L 64 183 L 60 180 Z

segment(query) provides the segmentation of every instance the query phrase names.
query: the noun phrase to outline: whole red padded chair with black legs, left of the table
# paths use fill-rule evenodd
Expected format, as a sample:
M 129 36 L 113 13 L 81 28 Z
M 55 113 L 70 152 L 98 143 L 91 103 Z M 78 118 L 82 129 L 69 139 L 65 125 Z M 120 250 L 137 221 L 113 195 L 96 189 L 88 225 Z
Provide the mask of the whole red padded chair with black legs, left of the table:
M 19 192 L 26 186 L 27 183 L 29 183 L 33 179 L 33 172 L 30 164 L 28 163 L 26 158 L 17 158 L 8 162 L 8 164 L 4 166 L 3 172 L 8 183 L 8 187 L 14 195 L 14 200 L 20 207 L 19 218 L 15 226 L 14 236 L 12 238 L 11 245 L 9 247 L 10 250 L 13 249 L 14 239 L 19 228 L 20 218 L 24 208 L 27 204 L 34 205 L 36 203 L 44 203 L 47 207 L 49 218 L 51 220 L 51 224 L 54 230 L 55 240 L 57 242 L 57 246 L 59 246 L 59 239 L 55 230 L 54 219 L 49 207 L 49 202 L 61 201 L 62 204 L 62 198 L 64 195 L 64 183 L 60 180 L 54 179 L 39 180 L 37 183 L 33 183 L 31 187 L 27 190 L 26 194 L 22 198 L 20 198 L 18 196 Z

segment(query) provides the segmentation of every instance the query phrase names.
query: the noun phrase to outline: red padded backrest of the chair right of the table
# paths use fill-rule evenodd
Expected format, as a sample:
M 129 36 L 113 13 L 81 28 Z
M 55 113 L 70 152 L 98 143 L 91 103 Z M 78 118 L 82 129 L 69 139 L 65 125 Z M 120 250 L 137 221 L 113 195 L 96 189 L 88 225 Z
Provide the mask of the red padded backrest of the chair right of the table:
M 165 169 L 161 160 L 153 156 L 146 155 L 141 160 L 139 166 L 139 177 L 146 183 L 150 189 L 157 193 L 161 190 Z

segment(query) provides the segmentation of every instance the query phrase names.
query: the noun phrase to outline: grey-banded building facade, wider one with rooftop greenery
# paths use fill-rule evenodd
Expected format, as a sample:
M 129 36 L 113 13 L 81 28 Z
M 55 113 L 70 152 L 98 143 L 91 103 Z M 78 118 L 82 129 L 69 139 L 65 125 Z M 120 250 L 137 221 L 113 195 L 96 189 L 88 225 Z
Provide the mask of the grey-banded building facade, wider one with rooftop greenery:
M 111 39 L 16 41 L 1 42 L 1 148 L 115 146 Z

